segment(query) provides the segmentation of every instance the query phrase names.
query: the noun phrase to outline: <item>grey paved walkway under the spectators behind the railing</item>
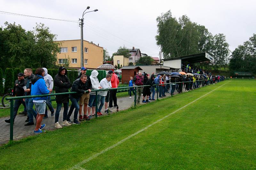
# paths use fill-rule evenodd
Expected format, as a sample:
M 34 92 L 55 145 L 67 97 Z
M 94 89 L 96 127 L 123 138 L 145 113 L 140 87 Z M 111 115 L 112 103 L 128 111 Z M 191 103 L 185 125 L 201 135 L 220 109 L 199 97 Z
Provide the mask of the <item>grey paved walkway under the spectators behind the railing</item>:
M 183 88 L 183 92 L 185 92 L 185 88 Z M 174 94 L 177 94 L 177 91 L 175 91 Z M 169 93 L 166 93 L 165 95 L 166 97 L 170 96 Z M 155 94 L 155 99 L 156 99 L 156 94 Z M 142 101 L 142 96 L 140 97 L 140 101 Z M 131 99 L 129 98 L 129 96 L 117 98 L 117 104 L 119 107 L 119 111 L 129 109 L 134 104 L 134 96 L 132 96 Z M 142 104 L 146 104 L 146 103 L 142 103 Z M 113 112 L 116 112 L 116 108 L 110 109 L 110 110 L 112 110 Z M 60 111 L 60 117 L 59 117 L 60 124 L 62 124 L 62 117 L 63 117 L 62 113 L 63 113 L 63 107 L 61 108 L 61 111 Z M 104 106 L 101 113 L 103 114 L 103 116 L 106 115 L 106 113 L 104 113 Z M 72 117 L 73 117 L 73 114 L 71 115 L 71 118 Z M 10 124 L 4 122 L 5 119 L 9 119 L 9 118 L 10 117 L 0 118 L 0 144 L 8 143 L 10 139 Z M 27 116 L 22 116 L 22 115 L 16 116 L 15 122 L 13 125 L 13 140 L 19 140 L 21 138 L 34 135 L 34 129 L 36 124 L 30 125 L 30 126 L 24 126 L 24 124 L 27 123 L 25 122 L 26 119 L 27 119 Z M 34 120 L 34 122 L 36 121 Z M 48 110 L 48 118 L 43 119 L 42 121 L 42 124 L 46 124 L 44 130 L 47 130 L 47 131 L 55 130 L 56 128 L 54 127 L 54 122 L 55 122 L 55 116 L 51 117 L 51 112 Z

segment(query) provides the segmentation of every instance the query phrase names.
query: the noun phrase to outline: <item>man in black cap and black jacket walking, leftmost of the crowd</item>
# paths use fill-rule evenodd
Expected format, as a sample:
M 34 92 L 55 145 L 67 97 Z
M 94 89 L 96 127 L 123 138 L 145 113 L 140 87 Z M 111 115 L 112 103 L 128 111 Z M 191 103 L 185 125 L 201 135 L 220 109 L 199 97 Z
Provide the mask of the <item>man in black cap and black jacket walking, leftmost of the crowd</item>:
M 18 75 L 18 80 L 15 81 L 14 83 L 14 87 L 13 87 L 13 94 L 12 96 L 23 96 L 24 94 L 24 89 L 23 87 L 25 86 L 24 83 L 24 74 L 23 73 L 19 73 Z M 24 108 L 26 108 L 26 104 L 23 101 L 23 99 L 16 99 L 14 101 L 14 105 L 13 105 L 13 122 L 14 119 L 17 115 L 17 112 L 19 110 L 20 105 L 23 104 Z M 4 120 L 6 123 L 10 123 L 10 119 Z

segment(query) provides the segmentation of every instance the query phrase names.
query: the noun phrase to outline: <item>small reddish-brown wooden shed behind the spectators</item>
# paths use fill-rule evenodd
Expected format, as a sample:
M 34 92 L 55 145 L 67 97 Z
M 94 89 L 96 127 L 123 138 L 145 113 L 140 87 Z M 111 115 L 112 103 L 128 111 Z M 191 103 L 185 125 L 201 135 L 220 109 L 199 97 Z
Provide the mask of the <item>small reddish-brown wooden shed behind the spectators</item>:
M 139 66 L 125 66 L 120 69 L 122 70 L 122 84 L 129 83 L 130 77 L 134 77 L 139 70 L 142 70 Z

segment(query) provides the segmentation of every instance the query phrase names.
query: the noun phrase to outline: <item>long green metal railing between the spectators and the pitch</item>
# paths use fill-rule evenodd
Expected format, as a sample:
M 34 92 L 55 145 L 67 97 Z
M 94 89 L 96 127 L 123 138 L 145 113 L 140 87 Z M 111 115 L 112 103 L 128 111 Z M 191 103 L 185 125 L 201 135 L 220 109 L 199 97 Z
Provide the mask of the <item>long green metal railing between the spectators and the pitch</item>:
M 206 80 L 197 80 L 197 81 L 206 81 Z M 167 84 L 180 84 L 180 83 L 189 83 L 194 81 L 182 81 L 182 82 L 172 82 L 172 83 L 164 83 L 161 85 L 167 85 Z M 157 100 L 158 100 L 158 86 L 159 84 L 154 84 L 157 89 Z M 199 85 L 200 86 L 200 85 Z M 106 90 L 116 90 L 116 89 L 127 89 L 127 88 L 135 88 L 134 90 L 134 107 L 136 106 L 136 89 L 140 87 L 151 87 L 151 85 L 143 85 L 143 86 L 131 86 L 131 87 L 121 87 L 121 88 L 112 88 L 112 89 L 97 89 L 97 90 L 91 90 L 92 92 L 96 92 L 95 96 L 95 111 L 98 110 L 98 91 L 106 91 Z M 89 92 L 88 90 L 86 92 Z M 33 97 L 45 97 L 45 96 L 57 96 L 57 95 L 68 95 L 68 94 L 75 94 L 77 92 L 66 92 L 66 93 L 52 93 L 52 94 L 45 94 L 45 95 L 34 95 L 34 96 L 18 96 L 18 97 L 7 97 L 6 100 L 10 100 L 10 141 L 13 140 L 13 100 L 15 99 L 27 99 L 27 98 L 33 98 Z M 140 94 L 139 94 L 140 95 Z M 98 115 L 95 113 L 95 117 L 97 118 Z

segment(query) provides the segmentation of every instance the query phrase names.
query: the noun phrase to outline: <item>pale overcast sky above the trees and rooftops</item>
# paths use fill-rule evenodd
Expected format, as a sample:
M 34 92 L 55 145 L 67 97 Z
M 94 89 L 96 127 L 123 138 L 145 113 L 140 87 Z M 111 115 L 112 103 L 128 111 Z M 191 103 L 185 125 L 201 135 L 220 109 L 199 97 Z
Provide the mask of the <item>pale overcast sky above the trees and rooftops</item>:
M 255 0 L 1 0 L 0 11 L 38 16 L 44 18 L 68 19 L 64 22 L 42 18 L 6 15 L 0 12 L 0 25 L 15 22 L 26 30 L 33 30 L 36 23 L 44 23 L 57 40 L 80 39 L 78 19 L 83 11 L 98 9 L 84 15 L 84 40 L 93 41 L 108 50 L 116 52 L 119 46 L 140 48 L 141 53 L 158 57 L 156 45 L 156 17 L 168 10 L 179 18 L 187 15 L 192 22 L 204 25 L 213 35 L 226 35 L 233 51 L 256 33 Z

